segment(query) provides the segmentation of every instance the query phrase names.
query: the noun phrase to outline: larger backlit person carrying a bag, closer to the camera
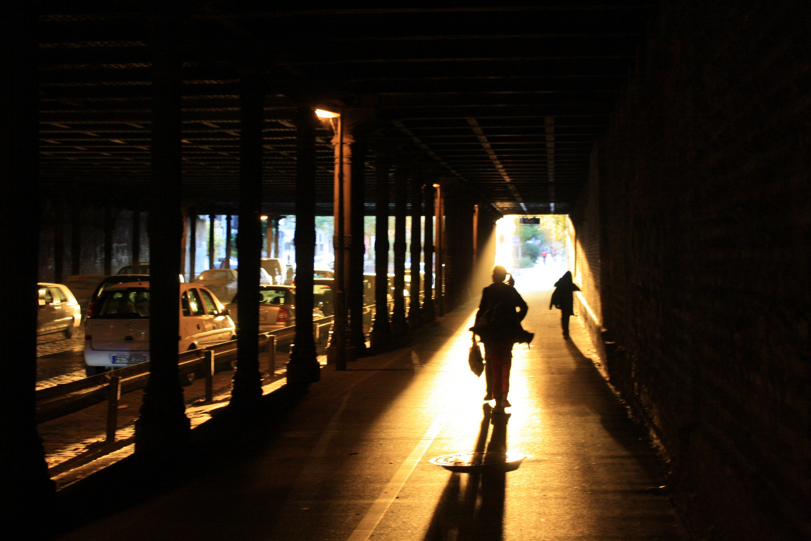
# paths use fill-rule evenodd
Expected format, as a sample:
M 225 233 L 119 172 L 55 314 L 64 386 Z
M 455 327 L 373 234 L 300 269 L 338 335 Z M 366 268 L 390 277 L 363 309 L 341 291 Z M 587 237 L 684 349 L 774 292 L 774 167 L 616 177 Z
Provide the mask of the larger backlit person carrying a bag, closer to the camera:
M 504 283 L 507 270 L 493 267 L 493 283 L 482 291 L 476 323 L 470 329 L 484 343 L 484 375 L 487 395 L 484 400 L 495 400 L 493 413 L 504 413 L 509 407 L 509 371 L 513 364 L 513 344 L 532 340 L 533 334 L 521 327 L 521 320 L 528 310 L 524 299 L 515 288 Z M 511 277 L 511 282 L 512 277 Z M 516 311 L 516 309 L 518 311 Z

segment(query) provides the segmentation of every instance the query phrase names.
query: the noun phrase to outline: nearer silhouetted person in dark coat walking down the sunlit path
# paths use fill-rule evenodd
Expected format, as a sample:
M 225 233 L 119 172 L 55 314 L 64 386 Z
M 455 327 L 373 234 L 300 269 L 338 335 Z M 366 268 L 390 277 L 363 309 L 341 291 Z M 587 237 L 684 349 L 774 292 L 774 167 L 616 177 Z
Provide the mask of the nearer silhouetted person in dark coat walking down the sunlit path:
M 493 283 L 482 291 L 482 302 L 478 304 L 478 314 L 483 315 L 488 310 L 498 305 L 508 307 L 508 310 L 515 314 L 515 325 L 521 328 L 521 320 L 526 316 L 528 310 L 524 299 L 521 298 L 511 284 L 504 283 L 507 277 L 507 270 L 496 265 L 493 267 Z M 515 283 L 511 280 L 512 283 Z M 515 310 L 518 310 L 517 313 Z M 486 330 L 477 332 L 484 344 L 484 376 L 487 380 L 487 395 L 485 400 L 495 400 L 494 413 L 504 413 L 504 408 L 509 407 L 507 400 L 509 392 L 509 371 L 513 365 L 513 343 L 515 340 L 511 333 L 487 333 Z M 523 333 L 523 328 L 521 328 Z M 531 340 L 531 334 L 530 335 Z

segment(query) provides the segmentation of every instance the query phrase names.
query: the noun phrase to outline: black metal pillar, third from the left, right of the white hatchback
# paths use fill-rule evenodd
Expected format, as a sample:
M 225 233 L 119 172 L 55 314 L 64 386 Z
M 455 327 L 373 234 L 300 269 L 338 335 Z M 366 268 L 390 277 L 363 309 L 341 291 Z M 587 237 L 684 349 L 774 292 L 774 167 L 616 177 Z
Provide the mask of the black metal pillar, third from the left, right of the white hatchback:
M 259 371 L 259 273 L 262 259 L 263 80 L 247 75 L 239 89 L 239 322 L 232 408 L 251 409 L 262 397 Z

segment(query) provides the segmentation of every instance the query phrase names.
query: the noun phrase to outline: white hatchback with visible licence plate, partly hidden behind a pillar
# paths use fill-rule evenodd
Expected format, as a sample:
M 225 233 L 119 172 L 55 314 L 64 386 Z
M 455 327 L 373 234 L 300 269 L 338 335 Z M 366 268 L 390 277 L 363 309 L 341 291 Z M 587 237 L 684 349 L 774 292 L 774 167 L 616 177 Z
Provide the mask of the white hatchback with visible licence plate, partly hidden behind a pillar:
M 178 353 L 234 339 L 234 321 L 217 296 L 197 284 L 180 284 Z M 149 282 L 105 289 L 84 329 L 88 376 L 149 360 Z

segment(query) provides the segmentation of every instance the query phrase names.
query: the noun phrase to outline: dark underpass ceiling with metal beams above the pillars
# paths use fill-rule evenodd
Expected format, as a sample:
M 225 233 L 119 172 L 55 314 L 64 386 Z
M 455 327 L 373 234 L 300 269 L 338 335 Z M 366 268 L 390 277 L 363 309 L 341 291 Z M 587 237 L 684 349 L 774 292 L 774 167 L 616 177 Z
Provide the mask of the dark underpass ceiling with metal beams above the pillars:
M 237 200 L 238 80 L 259 71 L 268 82 L 264 200 L 281 213 L 293 212 L 295 106 L 328 99 L 375 112 L 373 148 L 456 178 L 501 213 L 569 212 L 652 10 L 608 2 L 188 5 L 177 32 L 184 197 L 209 206 Z M 45 182 L 117 197 L 145 192 L 156 20 L 144 2 L 41 8 Z M 326 128 L 318 134 L 320 213 L 332 207 L 331 137 Z M 370 186 L 369 204 L 372 197 Z

